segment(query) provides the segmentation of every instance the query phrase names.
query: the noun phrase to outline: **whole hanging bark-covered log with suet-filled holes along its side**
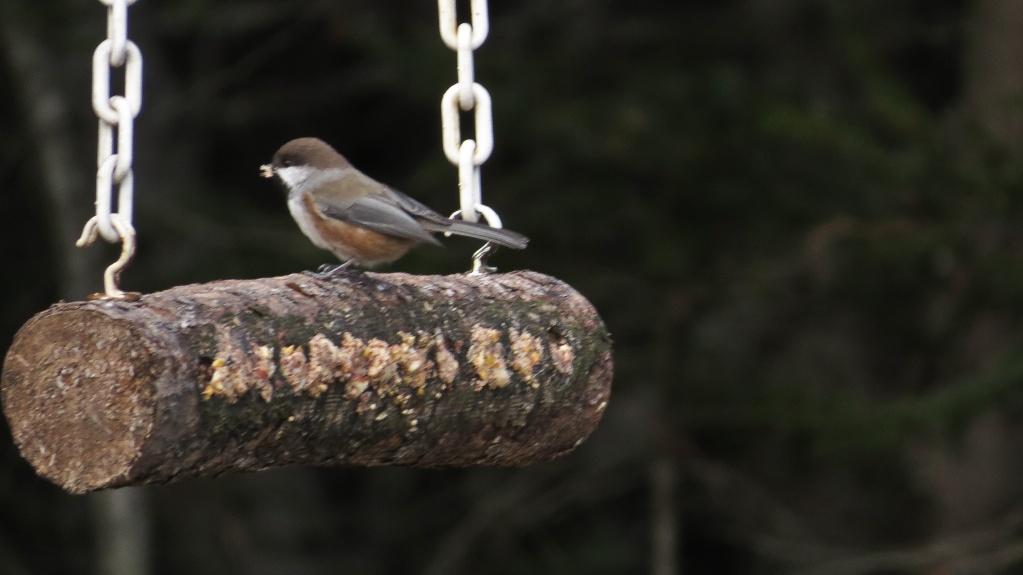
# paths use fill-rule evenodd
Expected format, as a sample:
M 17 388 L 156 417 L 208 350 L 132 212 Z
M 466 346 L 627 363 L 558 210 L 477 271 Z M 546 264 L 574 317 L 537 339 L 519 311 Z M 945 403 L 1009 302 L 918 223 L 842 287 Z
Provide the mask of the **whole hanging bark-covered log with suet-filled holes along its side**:
M 285 466 L 527 466 L 601 419 L 611 339 L 535 272 L 351 272 L 58 303 L 14 338 L 0 399 L 71 493 Z

